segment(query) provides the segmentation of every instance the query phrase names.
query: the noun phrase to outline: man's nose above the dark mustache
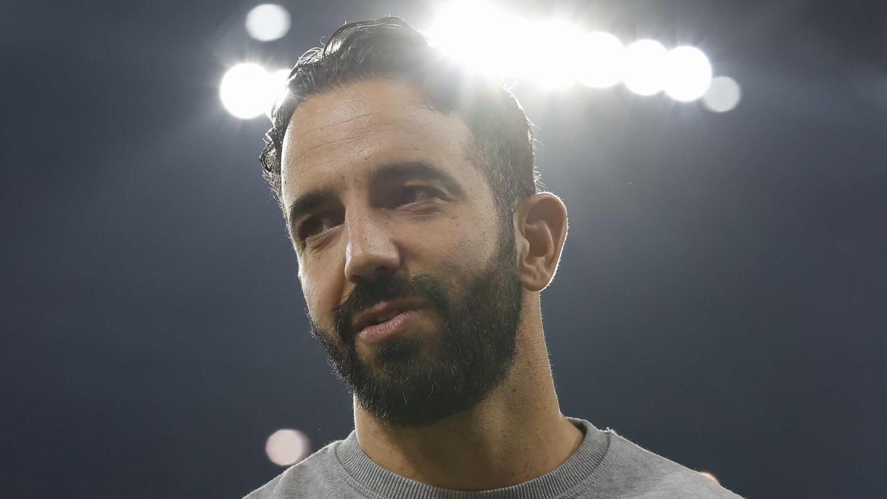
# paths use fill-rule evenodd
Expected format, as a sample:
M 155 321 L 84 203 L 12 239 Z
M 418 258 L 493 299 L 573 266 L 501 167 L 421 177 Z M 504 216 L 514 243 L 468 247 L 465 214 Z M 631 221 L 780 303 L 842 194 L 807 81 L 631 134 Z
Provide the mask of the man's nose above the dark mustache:
M 382 270 L 394 272 L 400 266 L 400 251 L 386 220 L 372 212 L 352 210 L 346 215 L 344 224 L 348 237 L 346 279 L 351 282 L 372 281 Z

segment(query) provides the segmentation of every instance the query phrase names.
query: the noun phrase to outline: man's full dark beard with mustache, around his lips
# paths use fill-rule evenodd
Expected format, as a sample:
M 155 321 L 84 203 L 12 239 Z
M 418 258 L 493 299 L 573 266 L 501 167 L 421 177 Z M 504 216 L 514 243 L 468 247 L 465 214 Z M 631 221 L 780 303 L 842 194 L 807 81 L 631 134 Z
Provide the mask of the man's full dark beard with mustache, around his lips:
M 309 314 L 311 335 L 324 346 L 336 376 L 373 417 L 403 427 L 435 424 L 474 408 L 506 378 L 517 353 L 521 281 L 514 228 L 510 219 L 504 225 L 497 253 L 465 289 L 451 293 L 455 298 L 429 274 L 407 280 L 386 272 L 357 283 L 334 311 L 335 331 L 320 329 Z M 348 325 L 366 307 L 397 297 L 423 298 L 443 327 L 389 338 L 375 345 L 365 363 Z

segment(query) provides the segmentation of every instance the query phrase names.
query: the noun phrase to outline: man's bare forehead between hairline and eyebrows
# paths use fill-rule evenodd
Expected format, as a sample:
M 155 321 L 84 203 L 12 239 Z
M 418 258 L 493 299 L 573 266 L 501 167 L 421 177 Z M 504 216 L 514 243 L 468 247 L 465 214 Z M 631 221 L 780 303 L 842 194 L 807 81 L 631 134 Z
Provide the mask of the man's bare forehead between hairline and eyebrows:
M 361 170 L 385 162 L 422 160 L 462 175 L 456 170 L 467 166 L 470 138 L 458 116 L 428 107 L 417 83 L 350 83 L 296 108 L 281 154 L 283 195 L 360 178 Z

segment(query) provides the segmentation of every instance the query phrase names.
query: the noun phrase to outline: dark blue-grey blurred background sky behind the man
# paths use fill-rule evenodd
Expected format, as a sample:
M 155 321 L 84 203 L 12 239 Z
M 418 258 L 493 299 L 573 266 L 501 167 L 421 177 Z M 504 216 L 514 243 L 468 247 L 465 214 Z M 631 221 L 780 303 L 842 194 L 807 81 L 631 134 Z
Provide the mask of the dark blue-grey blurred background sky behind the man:
M 352 429 L 225 69 L 426 2 L 0 2 L 0 495 L 231 497 Z M 739 107 L 514 92 L 570 232 L 543 293 L 561 410 L 749 497 L 887 489 L 887 7 L 510 3 L 696 44 Z M 556 44 L 553 43 L 553 47 Z

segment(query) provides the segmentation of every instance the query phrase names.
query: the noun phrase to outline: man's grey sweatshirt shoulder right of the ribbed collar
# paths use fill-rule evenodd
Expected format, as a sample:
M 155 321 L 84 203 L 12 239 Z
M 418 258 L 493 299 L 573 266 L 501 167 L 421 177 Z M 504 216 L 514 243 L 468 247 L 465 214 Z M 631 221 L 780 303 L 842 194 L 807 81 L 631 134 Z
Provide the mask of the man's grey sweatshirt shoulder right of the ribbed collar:
M 612 430 L 608 433 L 610 448 L 601 468 L 604 481 L 623 494 L 619 497 L 742 499 L 698 471 L 640 448 Z

